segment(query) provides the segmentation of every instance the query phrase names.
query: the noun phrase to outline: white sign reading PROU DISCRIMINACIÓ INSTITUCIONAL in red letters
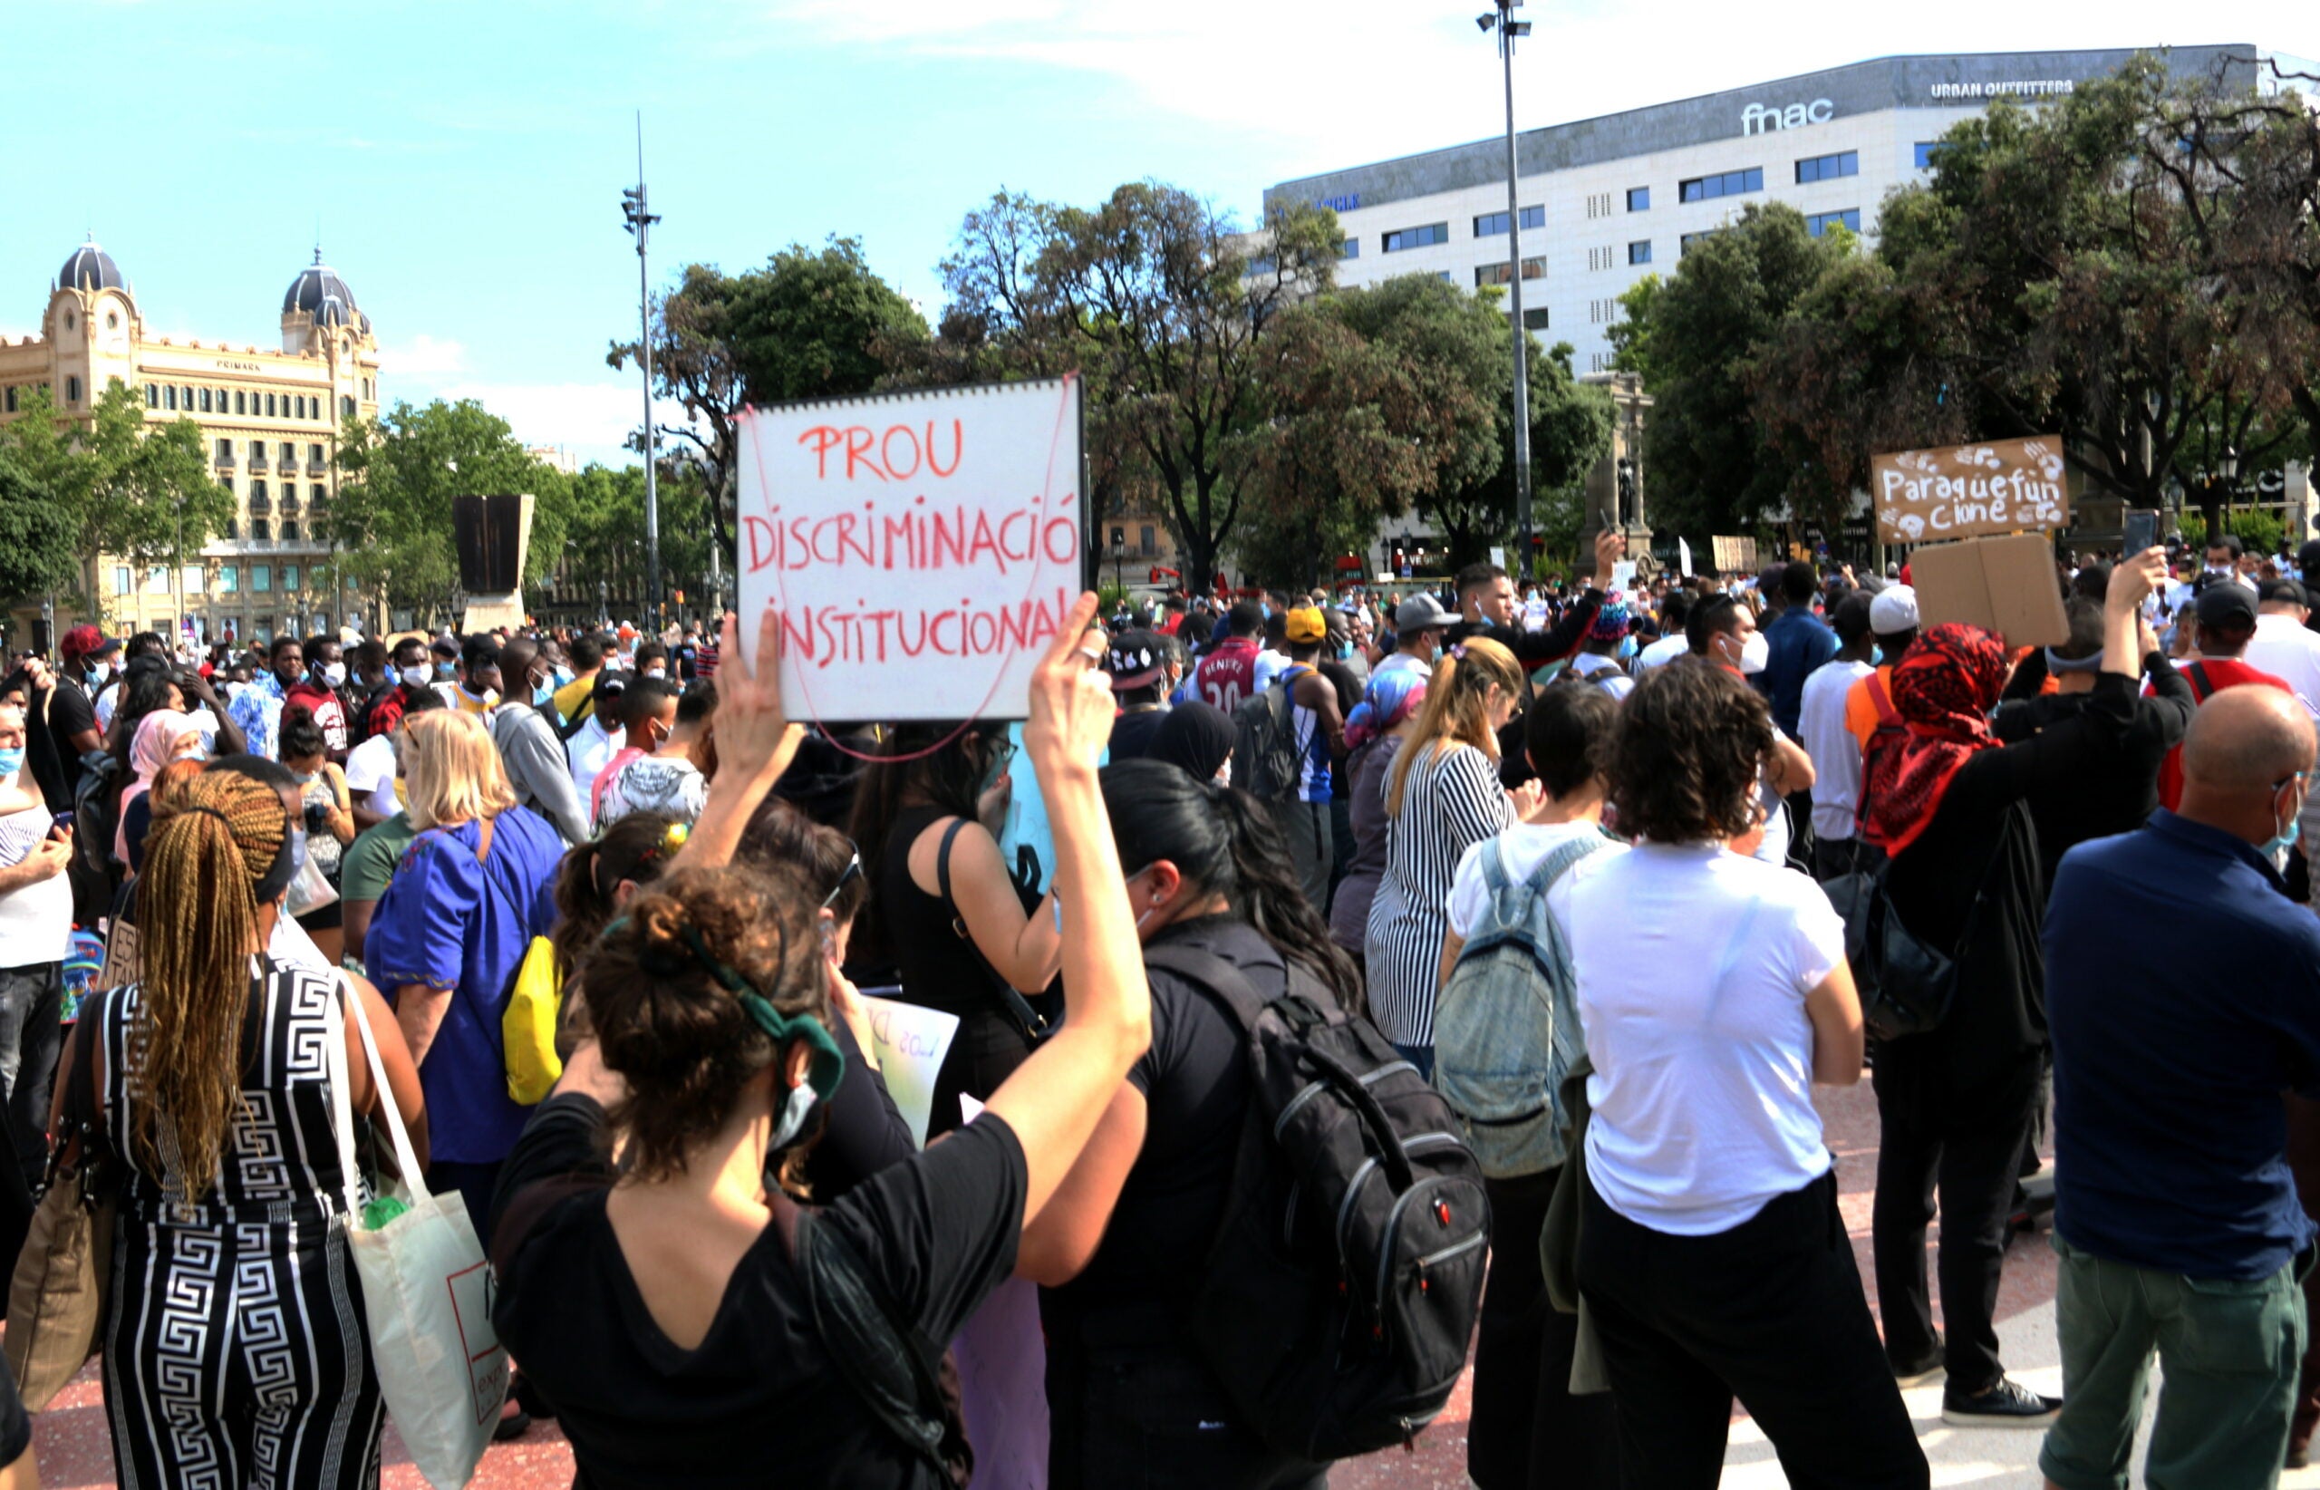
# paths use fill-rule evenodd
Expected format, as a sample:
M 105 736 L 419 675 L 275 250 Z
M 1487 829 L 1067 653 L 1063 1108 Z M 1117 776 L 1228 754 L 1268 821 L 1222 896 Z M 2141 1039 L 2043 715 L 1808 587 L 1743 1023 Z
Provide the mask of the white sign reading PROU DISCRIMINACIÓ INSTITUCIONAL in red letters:
M 1081 592 L 1079 378 L 747 408 L 740 636 L 793 719 L 1021 719 Z

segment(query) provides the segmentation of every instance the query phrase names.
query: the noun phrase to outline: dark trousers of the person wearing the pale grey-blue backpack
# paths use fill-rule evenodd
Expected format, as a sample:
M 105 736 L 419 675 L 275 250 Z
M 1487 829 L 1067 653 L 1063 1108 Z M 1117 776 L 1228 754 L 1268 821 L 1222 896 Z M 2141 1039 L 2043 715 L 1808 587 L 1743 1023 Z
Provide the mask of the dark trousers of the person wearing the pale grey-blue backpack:
M 1578 1160 L 1585 1163 L 1585 1160 Z M 1489 1281 L 1473 1332 L 1466 1478 L 1480 1490 L 1619 1490 L 1619 1420 L 1608 1393 L 1571 1395 L 1580 1321 L 1547 1302 L 1538 1232 L 1561 1170 L 1485 1179 Z

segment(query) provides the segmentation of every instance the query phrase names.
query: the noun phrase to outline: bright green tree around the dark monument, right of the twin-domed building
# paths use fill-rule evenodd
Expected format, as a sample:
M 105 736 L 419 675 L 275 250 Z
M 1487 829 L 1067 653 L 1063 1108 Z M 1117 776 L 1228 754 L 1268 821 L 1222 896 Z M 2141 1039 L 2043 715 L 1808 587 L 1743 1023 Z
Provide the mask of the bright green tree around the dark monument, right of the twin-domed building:
M 476 399 L 397 404 L 378 420 L 346 422 L 327 534 L 346 573 L 385 590 L 387 606 L 434 622 L 459 596 L 452 499 L 515 492 L 536 499 L 524 580 L 541 583 L 564 552 L 571 478 L 524 450 Z

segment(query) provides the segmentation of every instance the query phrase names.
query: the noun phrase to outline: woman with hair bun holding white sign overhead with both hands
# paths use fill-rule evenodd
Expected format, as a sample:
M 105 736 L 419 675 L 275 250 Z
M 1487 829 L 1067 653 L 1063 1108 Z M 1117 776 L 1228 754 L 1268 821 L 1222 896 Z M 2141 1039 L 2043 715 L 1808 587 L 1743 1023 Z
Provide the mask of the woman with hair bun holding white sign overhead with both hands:
M 1111 689 L 1090 671 L 1093 615 L 1086 594 L 1035 668 L 1023 729 L 1056 826 L 1070 1017 L 972 1123 L 810 1214 L 784 1181 L 842 1075 L 817 905 L 793 868 L 724 868 L 803 731 L 782 717 L 773 613 L 754 668 L 726 620 L 724 768 L 670 875 L 582 963 L 596 1040 L 508 1156 L 496 1202 L 492 1321 L 554 1402 L 580 1483 L 949 1483 L 944 1455 L 856 1390 L 858 1337 L 826 1328 L 805 1276 L 840 1256 L 849 1297 L 940 1353 L 1014 1272 L 1023 1228 L 1151 1040 L 1097 794 Z

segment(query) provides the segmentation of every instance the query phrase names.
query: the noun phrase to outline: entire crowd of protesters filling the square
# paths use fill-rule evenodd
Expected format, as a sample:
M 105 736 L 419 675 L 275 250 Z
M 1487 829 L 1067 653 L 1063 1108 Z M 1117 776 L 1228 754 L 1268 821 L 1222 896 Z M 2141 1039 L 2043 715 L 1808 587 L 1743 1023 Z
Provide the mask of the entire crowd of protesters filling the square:
M 79 627 L 21 659 L 0 1244 L 51 1135 L 118 1156 L 123 1483 L 378 1481 L 343 1256 L 378 1174 L 311 1058 L 343 1042 L 336 1095 L 401 1116 L 496 1270 L 496 1437 L 552 1413 L 582 1483 L 756 1483 L 775 1423 L 798 1483 L 956 1483 L 960 1416 L 898 1404 L 831 1318 L 868 1300 L 956 1406 L 944 1346 L 1023 1279 L 1046 1483 L 1320 1485 L 1341 1451 L 1230 1360 L 1278 1341 L 1197 1307 L 1269 1116 L 1248 1010 L 1355 1030 L 1380 1114 L 1438 1093 L 1448 1130 L 1371 1153 L 1339 1246 L 1371 1170 L 1478 1167 L 1480 1490 L 1714 1485 L 1735 1399 L 1796 1485 L 1921 1488 L 1900 1393 L 1935 1379 L 1946 1423 L 2046 1430 L 2051 1483 L 2123 1485 L 2153 1355 L 2148 1483 L 2304 1462 L 2301 566 L 2076 555 L 2067 636 L 2018 648 L 1926 624 L 1907 571 L 1594 559 L 1571 590 L 1083 596 L 1018 724 L 789 719 L 770 620 L 747 654 L 728 617 L 209 657 Z M 1914 1024 L 1895 935 L 1946 965 Z M 923 1142 L 863 989 L 956 1017 Z M 1863 1077 L 1875 1307 L 1812 1091 Z M 2046 1207 L 2062 1397 L 1995 1323 Z M 1292 1186 L 1262 1228 L 1299 1214 Z M 5 1413 L 0 1458 L 26 1439 Z

